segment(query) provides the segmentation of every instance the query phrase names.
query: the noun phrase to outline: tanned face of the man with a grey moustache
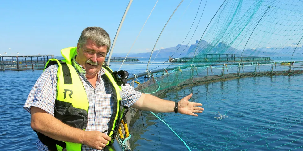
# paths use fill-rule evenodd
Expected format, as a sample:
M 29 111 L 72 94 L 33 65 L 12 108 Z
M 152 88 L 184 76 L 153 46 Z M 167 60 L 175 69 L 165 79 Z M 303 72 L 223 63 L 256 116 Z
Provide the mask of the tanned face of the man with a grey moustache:
M 86 44 L 80 47 L 77 44 L 76 61 L 83 66 L 87 78 L 94 78 L 102 68 L 107 52 L 107 46 L 98 46 L 88 39 Z

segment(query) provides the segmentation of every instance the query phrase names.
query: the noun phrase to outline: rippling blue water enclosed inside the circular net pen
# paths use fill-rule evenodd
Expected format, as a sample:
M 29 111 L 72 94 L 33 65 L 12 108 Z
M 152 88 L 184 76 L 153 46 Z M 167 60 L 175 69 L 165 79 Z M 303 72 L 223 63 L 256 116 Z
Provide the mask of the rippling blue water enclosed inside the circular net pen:
M 203 104 L 198 117 L 158 113 L 192 151 L 303 150 L 302 76 L 251 77 L 184 88 L 166 94 Z M 218 118 L 221 115 L 224 118 Z M 225 116 L 224 116 L 225 115 Z M 216 118 L 217 117 L 217 118 Z M 188 150 L 150 112 L 131 127 L 134 151 Z

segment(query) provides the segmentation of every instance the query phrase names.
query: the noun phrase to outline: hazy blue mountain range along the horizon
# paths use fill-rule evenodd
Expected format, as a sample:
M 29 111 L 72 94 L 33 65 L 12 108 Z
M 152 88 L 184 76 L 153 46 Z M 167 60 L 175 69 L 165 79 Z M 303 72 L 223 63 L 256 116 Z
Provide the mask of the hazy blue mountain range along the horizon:
M 245 49 L 238 50 L 233 48 L 227 44 L 222 42 L 218 43 L 216 46 L 212 46 L 211 44 L 207 43 L 205 40 L 201 40 L 197 48 L 199 41 L 196 40 L 195 44 L 192 44 L 190 47 L 188 45 L 181 45 L 178 44 L 175 47 L 164 48 L 160 50 L 155 50 L 152 55 L 152 59 L 157 58 L 181 58 L 181 57 L 193 57 L 196 52 L 196 57 L 203 58 L 203 54 L 218 54 L 218 53 L 226 53 L 226 54 L 236 54 L 236 57 L 291 57 L 292 53 L 296 45 L 285 47 L 285 48 L 257 48 L 257 49 Z M 177 52 L 176 52 L 177 50 Z M 243 54 L 242 54 L 243 52 Z M 127 53 L 113 53 L 113 57 L 126 57 Z M 129 53 L 128 58 L 149 58 L 151 52 L 144 52 L 144 53 Z M 62 56 L 54 56 L 58 59 L 63 59 Z M 294 57 L 303 57 L 303 47 L 300 46 L 296 49 L 294 53 Z

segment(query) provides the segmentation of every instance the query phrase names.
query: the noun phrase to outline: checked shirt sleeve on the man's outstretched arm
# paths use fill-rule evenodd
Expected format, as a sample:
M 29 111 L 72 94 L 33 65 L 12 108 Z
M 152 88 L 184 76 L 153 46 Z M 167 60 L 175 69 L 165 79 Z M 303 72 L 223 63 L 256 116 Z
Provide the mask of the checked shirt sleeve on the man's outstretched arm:
M 132 86 L 129 84 L 125 84 L 125 86 L 121 85 L 122 89 L 122 105 L 130 107 L 132 106 L 138 99 L 141 97 L 142 93 L 134 90 Z

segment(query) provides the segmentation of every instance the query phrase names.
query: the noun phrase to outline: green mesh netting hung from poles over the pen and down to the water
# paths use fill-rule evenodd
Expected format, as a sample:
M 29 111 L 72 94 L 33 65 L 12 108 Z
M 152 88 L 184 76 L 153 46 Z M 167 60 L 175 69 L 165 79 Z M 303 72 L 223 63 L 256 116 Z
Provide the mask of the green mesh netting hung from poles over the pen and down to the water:
M 165 118 L 165 114 L 157 115 L 169 123 L 189 150 L 255 150 L 264 147 L 271 150 L 285 146 L 287 148 L 284 150 L 300 150 L 303 149 L 303 103 L 302 97 L 297 94 L 302 94 L 300 89 L 303 84 L 301 76 L 298 76 L 303 73 L 302 37 L 303 1 L 226 0 L 201 35 L 201 39 L 185 52 L 185 57 L 180 58 L 181 54 L 172 56 L 168 61 L 170 65 L 165 68 L 161 66 L 160 69 L 163 69 L 160 72 L 150 72 L 136 90 L 178 100 L 194 92 L 193 89 L 198 90 L 200 86 L 205 88 L 211 83 L 260 78 L 258 85 L 249 87 L 257 91 L 260 87 L 271 90 L 271 86 L 262 84 L 263 77 L 298 77 L 289 78 L 293 80 L 291 87 L 284 87 L 287 81 L 275 83 L 280 85 L 281 91 L 285 89 L 283 93 L 288 94 L 288 99 L 279 99 L 282 94 L 272 90 L 266 102 L 258 101 L 258 97 L 253 98 L 252 94 L 239 96 L 245 100 L 243 104 L 213 102 L 208 110 L 217 114 L 213 115 L 215 118 L 195 121 L 193 130 L 178 127 L 177 119 L 169 120 Z M 246 86 L 252 85 L 250 83 Z M 182 93 L 182 97 L 169 98 L 169 95 L 181 91 L 186 91 Z M 258 93 L 255 94 L 258 96 Z M 204 102 L 208 102 L 207 98 Z M 225 110 L 218 113 L 219 110 L 224 111 L 218 108 L 222 103 L 230 103 L 236 111 L 228 113 Z M 280 116 L 277 113 L 279 110 L 275 109 L 288 111 L 282 112 L 285 116 Z M 261 113 L 254 114 L 258 111 Z M 243 120 L 244 125 L 239 125 L 243 123 L 238 121 Z M 250 123 L 252 120 L 257 122 Z M 218 124 L 219 122 L 223 123 Z M 218 125 L 228 127 L 220 128 Z M 203 128 L 208 128 L 205 131 L 210 128 L 213 135 L 205 131 L 204 133 Z M 200 130 L 198 134 L 201 136 L 196 136 L 196 129 Z M 215 134 L 220 134 L 220 137 Z

